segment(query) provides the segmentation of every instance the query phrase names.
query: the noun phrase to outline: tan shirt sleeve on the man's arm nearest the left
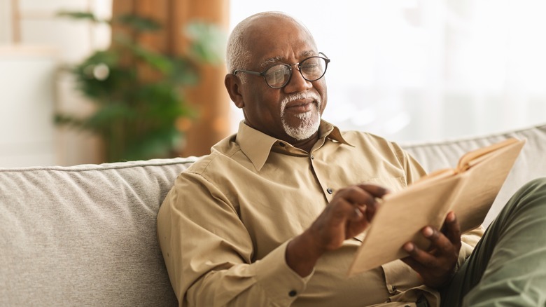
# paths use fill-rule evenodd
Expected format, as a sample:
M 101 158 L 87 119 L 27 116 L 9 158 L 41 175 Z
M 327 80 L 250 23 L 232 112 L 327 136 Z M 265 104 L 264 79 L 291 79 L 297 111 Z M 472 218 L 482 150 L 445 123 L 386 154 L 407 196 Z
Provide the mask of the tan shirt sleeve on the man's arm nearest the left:
M 180 306 L 288 306 L 312 275 L 288 267 L 287 243 L 253 259 L 238 208 L 198 174 L 176 179 L 160 207 L 158 239 Z

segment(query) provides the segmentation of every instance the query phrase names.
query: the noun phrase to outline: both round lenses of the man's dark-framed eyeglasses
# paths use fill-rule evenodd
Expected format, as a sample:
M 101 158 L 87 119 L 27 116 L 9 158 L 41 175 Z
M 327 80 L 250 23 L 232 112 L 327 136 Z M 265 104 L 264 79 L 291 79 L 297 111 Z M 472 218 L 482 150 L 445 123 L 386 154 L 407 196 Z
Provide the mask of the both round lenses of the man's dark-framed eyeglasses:
M 309 57 L 299 64 L 301 74 L 307 81 L 316 81 L 324 75 L 326 61 L 322 57 Z M 282 88 L 290 80 L 290 65 L 278 64 L 265 71 L 265 81 L 272 88 Z

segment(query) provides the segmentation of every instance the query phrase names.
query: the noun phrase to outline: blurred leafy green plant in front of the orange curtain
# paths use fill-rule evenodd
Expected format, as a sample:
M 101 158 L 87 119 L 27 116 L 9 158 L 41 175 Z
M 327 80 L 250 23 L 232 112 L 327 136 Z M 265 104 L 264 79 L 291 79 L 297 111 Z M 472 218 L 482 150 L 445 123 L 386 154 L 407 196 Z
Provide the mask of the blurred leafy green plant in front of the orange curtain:
M 139 44 L 141 34 L 162 26 L 151 18 L 122 15 L 98 20 L 92 13 L 64 12 L 69 18 L 107 22 L 127 29 L 107 50 L 96 50 L 71 68 L 78 90 L 95 104 L 85 117 L 58 113 L 55 122 L 88 130 L 104 142 L 107 162 L 176 155 L 183 137 L 177 123 L 195 114 L 183 88 L 197 83 L 197 64 L 218 63 L 222 33 L 212 25 L 191 24 L 187 55 L 167 55 Z

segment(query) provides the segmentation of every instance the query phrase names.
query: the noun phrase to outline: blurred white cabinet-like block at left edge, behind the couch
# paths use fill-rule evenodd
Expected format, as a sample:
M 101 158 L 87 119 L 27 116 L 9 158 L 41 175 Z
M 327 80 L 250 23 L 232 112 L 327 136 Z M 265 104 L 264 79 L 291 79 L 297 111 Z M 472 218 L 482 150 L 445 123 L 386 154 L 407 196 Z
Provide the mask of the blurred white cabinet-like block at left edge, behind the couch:
M 52 48 L 0 48 L 0 167 L 52 165 Z

